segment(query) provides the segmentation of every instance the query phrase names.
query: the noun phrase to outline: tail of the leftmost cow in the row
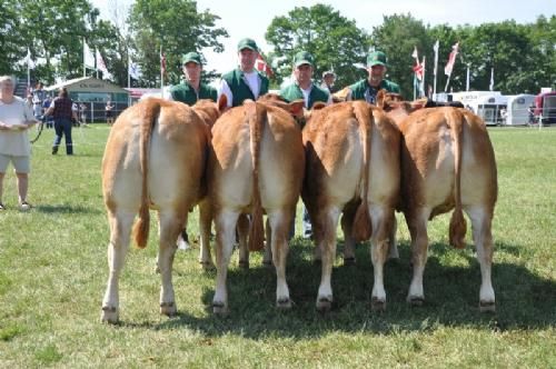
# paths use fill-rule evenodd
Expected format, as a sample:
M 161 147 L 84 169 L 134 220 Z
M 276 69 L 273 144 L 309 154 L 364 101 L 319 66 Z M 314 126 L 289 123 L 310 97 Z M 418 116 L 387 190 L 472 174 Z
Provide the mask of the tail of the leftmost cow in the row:
M 150 139 L 152 137 L 152 127 L 155 126 L 156 119 L 160 113 L 160 102 L 150 100 L 145 107 L 145 113 L 141 117 L 141 123 L 139 126 L 139 160 L 141 167 L 141 206 L 139 208 L 139 217 L 133 225 L 133 239 L 136 240 L 137 247 L 143 249 L 147 246 L 147 240 L 149 239 L 149 148 Z

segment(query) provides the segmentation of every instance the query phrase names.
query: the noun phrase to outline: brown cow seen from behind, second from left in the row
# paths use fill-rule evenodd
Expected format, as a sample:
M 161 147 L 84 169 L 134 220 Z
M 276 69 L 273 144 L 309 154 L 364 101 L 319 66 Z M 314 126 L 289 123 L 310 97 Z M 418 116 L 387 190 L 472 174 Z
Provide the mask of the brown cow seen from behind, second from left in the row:
M 302 108 L 302 103 L 297 104 L 297 109 Z M 304 168 L 300 129 L 281 108 L 247 100 L 222 114 L 214 126 L 208 176 L 216 226 L 215 313 L 228 311 L 226 279 L 238 217 L 251 215 L 249 249 L 261 249 L 264 210 L 271 229 L 277 306 L 291 306 L 286 282 L 287 240 Z

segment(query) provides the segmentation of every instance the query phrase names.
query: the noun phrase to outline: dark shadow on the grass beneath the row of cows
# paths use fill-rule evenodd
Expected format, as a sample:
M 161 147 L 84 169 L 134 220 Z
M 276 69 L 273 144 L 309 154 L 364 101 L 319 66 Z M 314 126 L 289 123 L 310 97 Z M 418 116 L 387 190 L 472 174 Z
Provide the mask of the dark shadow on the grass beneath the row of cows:
M 340 243 L 338 250 L 341 250 Z M 513 250 L 516 246 L 505 245 Z M 272 337 L 310 338 L 331 332 L 370 332 L 393 335 L 400 331 L 428 331 L 440 326 L 469 327 L 504 331 L 543 329 L 556 325 L 556 283 L 532 273 L 523 266 L 495 263 L 493 283 L 497 297 L 496 313 L 478 311 L 480 270 L 470 249 L 457 251 L 443 243 L 431 246 L 425 271 L 426 302 L 423 307 L 406 303 L 411 278 L 408 243 L 399 248 L 400 259 L 385 268 L 387 308 L 370 310 L 373 267 L 368 246 L 358 246 L 357 265 L 342 266 L 338 259 L 332 271 L 335 302 L 332 310 L 320 313 L 315 309 L 320 281 L 320 265 L 311 260 L 312 248 L 296 239 L 288 257 L 287 279 L 294 308 L 275 308 L 276 273 L 274 268 L 252 266 L 249 270 L 230 268 L 228 296 L 230 312 L 226 317 L 211 313 L 214 289 L 206 289 L 202 302 L 209 312 L 199 318 L 179 310 L 178 316 L 161 323 L 122 322 L 122 327 L 156 330 L 187 327 L 207 336 L 225 333 L 259 339 Z M 446 266 L 440 260 L 449 253 L 465 258 L 468 266 Z M 459 259 L 458 259 L 459 260 Z M 465 263 L 465 262 L 464 262 Z M 206 273 L 215 280 L 215 273 Z M 176 291 L 178 307 L 179 289 Z

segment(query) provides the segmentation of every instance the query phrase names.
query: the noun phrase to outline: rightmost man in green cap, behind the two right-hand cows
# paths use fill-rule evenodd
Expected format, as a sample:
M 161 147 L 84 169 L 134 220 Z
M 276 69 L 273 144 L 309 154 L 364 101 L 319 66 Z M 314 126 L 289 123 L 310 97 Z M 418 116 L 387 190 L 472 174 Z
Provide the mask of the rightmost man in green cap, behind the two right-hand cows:
M 375 104 L 377 93 L 381 89 L 399 93 L 399 86 L 385 79 L 386 67 L 386 54 L 383 51 L 370 52 L 367 56 L 367 72 L 369 77 L 349 86 L 346 100 L 365 100 Z

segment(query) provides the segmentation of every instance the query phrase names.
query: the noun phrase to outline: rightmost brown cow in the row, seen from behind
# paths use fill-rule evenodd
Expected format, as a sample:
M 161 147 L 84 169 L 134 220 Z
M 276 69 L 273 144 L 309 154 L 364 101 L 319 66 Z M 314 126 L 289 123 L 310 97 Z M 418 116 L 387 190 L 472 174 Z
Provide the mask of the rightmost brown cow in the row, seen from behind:
M 450 243 L 464 248 L 466 222 L 471 220 L 473 238 L 480 265 L 479 308 L 495 310 L 490 281 L 493 261 L 492 222 L 498 193 L 493 144 L 484 121 L 460 108 L 419 108 L 390 102 L 379 93 L 378 104 L 398 123 L 401 146 L 401 211 L 411 235 L 414 276 L 407 300 L 425 300 L 423 273 L 427 261 L 427 221 L 454 209 Z

